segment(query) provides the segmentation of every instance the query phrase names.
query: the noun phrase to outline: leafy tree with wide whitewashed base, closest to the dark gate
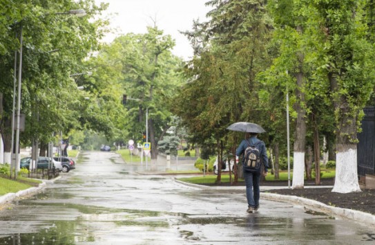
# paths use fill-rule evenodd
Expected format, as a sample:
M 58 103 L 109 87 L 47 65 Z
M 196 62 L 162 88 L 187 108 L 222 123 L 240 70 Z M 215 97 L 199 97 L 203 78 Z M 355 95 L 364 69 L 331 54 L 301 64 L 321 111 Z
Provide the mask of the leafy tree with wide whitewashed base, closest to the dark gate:
M 360 191 L 357 176 L 357 127 L 360 111 L 374 91 L 374 47 L 367 39 L 366 1 L 314 1 L 318 75 L 329 84 L 336 120 L 336 179 L 333 192 Z

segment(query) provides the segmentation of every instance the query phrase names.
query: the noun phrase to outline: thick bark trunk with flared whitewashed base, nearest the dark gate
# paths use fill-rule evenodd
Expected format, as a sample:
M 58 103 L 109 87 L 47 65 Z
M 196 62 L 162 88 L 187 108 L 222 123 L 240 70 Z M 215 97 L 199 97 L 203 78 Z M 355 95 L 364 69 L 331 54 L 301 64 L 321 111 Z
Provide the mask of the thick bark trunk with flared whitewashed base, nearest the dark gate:
M 338 91 L 336 74 L 329 73 L 331 90 Z M 336 131 L 336 178 L 332 192 L 360 192 L 357 170 L 357 125 L 346 98 L 334 99 L 338 130 Z

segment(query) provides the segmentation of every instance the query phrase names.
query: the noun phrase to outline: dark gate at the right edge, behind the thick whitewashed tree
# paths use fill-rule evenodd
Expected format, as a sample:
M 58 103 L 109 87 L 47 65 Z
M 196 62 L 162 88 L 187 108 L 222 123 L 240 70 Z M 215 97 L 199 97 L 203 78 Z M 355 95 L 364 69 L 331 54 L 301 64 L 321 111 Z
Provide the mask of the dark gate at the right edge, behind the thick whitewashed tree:
M 358 134 L 357 163 L 358 175 L 375 175 L 375 107 L 363 109 L 365 116 L 361 122 L 362 132 Z

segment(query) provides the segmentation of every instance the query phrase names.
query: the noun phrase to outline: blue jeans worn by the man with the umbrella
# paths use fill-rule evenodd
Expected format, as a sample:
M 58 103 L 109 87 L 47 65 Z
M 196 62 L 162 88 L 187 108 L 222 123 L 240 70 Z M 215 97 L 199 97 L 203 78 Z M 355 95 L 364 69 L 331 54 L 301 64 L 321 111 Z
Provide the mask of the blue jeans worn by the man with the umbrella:
M 246 184 L 246 198 L 247 206 L 252 208 L 259 207 L 260 197 L 260 172 L 247 172 L 244 171 L 244 183 Z

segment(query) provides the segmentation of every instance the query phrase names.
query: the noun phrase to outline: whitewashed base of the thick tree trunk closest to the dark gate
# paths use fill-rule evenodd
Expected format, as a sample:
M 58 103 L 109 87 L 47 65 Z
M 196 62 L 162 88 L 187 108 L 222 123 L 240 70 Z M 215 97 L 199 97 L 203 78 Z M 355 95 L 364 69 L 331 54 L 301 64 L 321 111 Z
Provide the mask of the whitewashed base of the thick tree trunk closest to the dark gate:
M 332 192 L 360 192 L 356 149 L 336 154 L 336 178 Z

